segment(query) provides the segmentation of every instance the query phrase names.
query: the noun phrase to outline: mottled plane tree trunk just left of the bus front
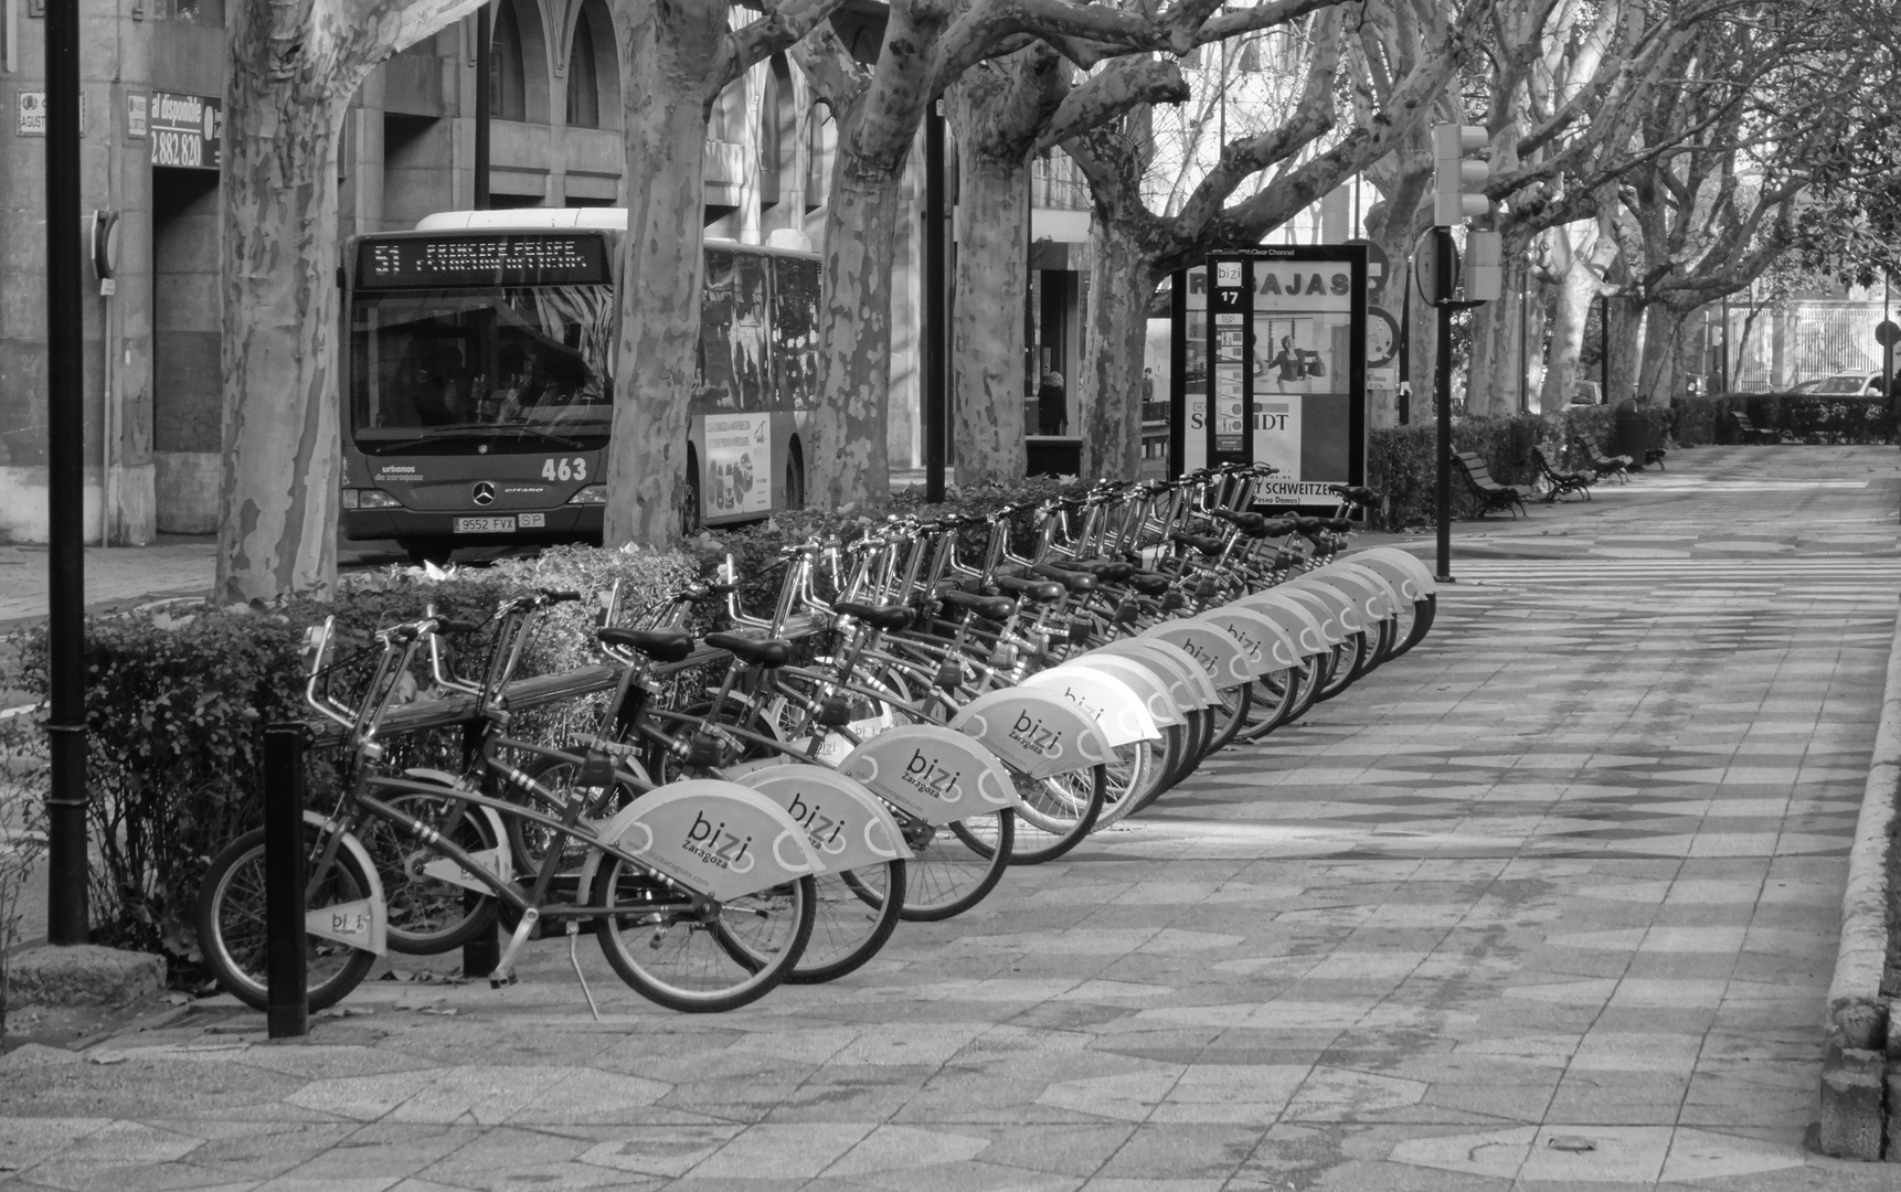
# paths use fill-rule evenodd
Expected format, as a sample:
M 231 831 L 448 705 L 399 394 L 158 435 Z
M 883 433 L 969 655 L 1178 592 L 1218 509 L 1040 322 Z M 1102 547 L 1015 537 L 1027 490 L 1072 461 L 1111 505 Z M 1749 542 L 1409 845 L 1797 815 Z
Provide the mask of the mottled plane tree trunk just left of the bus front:
M 336 141 L 384 59 L 481 0 L 240 0 L 226 34 L 221 283 L 224 390 L 215 595 L 336 584 Z

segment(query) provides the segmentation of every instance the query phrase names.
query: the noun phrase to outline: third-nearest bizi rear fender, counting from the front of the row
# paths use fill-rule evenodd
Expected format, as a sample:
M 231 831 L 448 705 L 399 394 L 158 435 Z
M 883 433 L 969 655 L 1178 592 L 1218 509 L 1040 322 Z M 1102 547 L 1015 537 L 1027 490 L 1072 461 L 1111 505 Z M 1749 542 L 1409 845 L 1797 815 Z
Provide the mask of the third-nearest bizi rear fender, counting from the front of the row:
M 994 753 L 939 724 L 899 724 L 880 732 L 848 753 L 838 772 L 931 825 L 990 816 L 1023 802 Z

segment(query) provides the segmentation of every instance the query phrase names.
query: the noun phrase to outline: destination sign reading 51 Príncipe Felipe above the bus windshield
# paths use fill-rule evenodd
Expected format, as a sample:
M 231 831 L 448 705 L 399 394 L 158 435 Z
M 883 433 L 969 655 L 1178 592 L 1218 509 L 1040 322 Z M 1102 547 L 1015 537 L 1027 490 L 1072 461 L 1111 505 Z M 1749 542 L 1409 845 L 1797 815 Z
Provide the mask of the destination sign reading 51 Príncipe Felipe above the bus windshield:
M 365 241 L 357 285 L 597 285 L 612 281 L 605 236 L 407 236 Z

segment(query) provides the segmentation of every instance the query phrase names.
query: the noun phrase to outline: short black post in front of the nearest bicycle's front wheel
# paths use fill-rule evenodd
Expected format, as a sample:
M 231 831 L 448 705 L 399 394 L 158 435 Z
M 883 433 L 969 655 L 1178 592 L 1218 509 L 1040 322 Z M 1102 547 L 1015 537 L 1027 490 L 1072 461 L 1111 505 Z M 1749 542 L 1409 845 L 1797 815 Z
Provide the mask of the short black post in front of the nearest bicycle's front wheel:
M 264 932 L 268 954 L 266 1029 L 270 1038 L 310 1032 L 304 960 L 304 749 L 310 728 L 264 728 Z

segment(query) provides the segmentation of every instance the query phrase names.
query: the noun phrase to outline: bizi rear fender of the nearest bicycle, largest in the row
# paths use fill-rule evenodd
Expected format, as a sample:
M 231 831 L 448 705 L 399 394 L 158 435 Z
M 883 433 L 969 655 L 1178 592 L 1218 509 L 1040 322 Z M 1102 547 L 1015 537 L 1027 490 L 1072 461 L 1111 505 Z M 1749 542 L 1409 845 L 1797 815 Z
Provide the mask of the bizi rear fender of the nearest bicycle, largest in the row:
M 608 819 L 601 840 L 720 901 L 825 869 L 779 804 L 717 778 L 654 787 Z

